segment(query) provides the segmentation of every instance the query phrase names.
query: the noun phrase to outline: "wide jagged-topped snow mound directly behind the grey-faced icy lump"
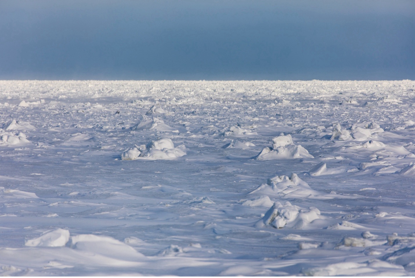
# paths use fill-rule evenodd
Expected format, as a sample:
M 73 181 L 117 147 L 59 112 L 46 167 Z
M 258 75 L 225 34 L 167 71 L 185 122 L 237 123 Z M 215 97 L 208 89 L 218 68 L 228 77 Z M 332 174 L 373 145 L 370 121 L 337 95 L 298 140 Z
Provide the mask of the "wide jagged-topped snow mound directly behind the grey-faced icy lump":
M 266 184 L 260 185 L 249 194 L 261 192 L 266 195 L 276 195 L 282 198 L 330 198 L 325 197 L 323 193 L 311 189 L 311 187 L 297 174 L 288 176 L 274 176 L 268 179 Z

